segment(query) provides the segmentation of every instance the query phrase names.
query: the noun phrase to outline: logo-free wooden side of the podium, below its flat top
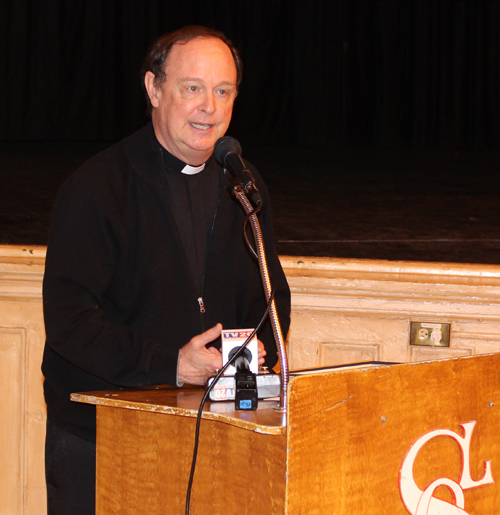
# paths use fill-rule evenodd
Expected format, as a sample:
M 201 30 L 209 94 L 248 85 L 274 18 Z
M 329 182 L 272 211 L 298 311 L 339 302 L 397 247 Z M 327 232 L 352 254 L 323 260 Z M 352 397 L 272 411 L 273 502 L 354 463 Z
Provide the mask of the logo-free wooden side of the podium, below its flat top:
M 191 513 L 284 513 L 286 436 L 220 419 L 201 423 Z M 183 514 L 195 418 L 100 405 L 97 422 L 97 513 Z

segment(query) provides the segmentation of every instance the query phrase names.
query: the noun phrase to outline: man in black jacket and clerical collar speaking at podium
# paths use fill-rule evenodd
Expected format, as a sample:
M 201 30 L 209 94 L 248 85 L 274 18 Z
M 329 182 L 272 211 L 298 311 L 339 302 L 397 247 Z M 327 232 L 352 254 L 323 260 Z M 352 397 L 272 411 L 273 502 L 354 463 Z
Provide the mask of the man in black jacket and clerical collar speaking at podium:
M 187 27 L 150 49 L 152 123 L 95 156 L 61 188 L 44 278 L 49 515 L 94 512 L 95 410 L 71 392 L 204 384 L 221 368 L 221 328 L 255 327 L 266 305 L 244 213 L 213 157 L 241 63 L 225 36 Z M 290 294 L 259 213 L 283 330 Z M 274 366 L 269 322 L 259 363 Z

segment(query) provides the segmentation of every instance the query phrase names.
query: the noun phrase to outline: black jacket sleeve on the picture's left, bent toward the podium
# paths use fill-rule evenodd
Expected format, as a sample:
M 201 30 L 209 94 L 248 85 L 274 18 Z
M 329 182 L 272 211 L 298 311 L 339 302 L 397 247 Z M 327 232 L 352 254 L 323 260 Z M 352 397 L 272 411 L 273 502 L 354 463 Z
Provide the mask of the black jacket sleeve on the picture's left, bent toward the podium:
M 106 309 L 125 230 L 124 202 L 115 197 L 125 193 L 104 195 L 100 172 L 76 173 L 55 202 L 43 284 L 47 345 L 116 386 L 176 384 L 177 349 L 143 337 Z

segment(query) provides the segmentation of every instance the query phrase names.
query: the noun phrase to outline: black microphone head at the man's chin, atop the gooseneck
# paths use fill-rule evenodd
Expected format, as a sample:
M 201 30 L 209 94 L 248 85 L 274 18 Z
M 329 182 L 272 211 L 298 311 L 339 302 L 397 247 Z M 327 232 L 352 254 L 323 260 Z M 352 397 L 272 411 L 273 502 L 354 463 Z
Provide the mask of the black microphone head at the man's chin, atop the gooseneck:
M 255 186 L 252 172 L 241 158 L 241 145 L 238 140 L 231 138 L 231 136 L 219 138 L 215 143 L 214 155 L 215 159 L 227 168 L 235 179 L 240 181 L 243 191 L 252 203 L 256 207 L 260 207 L 262 198 L 257 186 Z

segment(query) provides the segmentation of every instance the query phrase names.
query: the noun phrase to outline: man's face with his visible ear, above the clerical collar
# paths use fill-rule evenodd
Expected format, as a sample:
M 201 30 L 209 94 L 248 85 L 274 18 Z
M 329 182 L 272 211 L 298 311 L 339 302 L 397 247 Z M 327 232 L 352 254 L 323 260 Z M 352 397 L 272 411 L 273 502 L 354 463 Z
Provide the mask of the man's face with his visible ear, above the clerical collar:
M 216 38 L 195 38 L 172 47 L 166 80 L 151 72 L 145 82 L 159 142 L 190 165 L 204 163 L 224 136 L 236 98 L 236 65 L 229 47 Z

